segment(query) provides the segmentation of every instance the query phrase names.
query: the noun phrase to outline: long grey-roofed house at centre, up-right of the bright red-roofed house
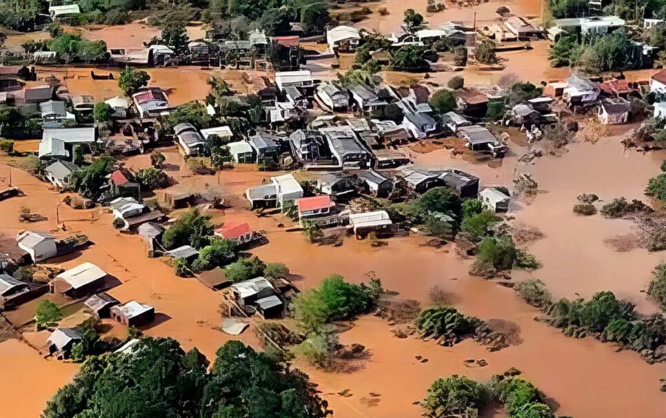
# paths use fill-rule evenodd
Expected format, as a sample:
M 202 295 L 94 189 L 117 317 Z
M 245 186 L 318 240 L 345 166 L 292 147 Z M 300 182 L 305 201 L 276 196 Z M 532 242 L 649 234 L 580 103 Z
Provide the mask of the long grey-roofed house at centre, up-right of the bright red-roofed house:
M 356 137 L 350 126 L 333 126 L 319 129 L 328 143 L 332 155 L 342 169 L 370 167 L 372 154 Z

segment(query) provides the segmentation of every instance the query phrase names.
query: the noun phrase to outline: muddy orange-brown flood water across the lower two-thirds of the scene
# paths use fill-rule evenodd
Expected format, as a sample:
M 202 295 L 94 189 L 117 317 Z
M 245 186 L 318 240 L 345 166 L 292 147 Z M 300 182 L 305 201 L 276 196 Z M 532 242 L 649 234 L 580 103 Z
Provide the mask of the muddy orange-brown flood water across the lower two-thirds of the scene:
M 512 148 L 515 155 L 494 168 L 451 159 L 450 151 L 444 149 L 416 156 L 415 160 L 425 167 L 467 169 L 482 176 L 484 184 L 510 185 L 516 156 L 522 151 L 521 147 L 512 145 Z M 602 140 L 596 145 L 569 145 L 569 149 L 561 158 L 544 157 L 524 168 L 534 173 L 541 188 L 549 193 L 540 194 L 530 206 L 514 205 L 512 209 L 519 220 L 537 225 L 547 236 L 529 248 L 545 264 L 533 275 L 545 280 L 558 296 L 576 292 L 589 295 L 611 289 L 649 311 L 652 306 L 639 291 L 649 280 L 649 270 L 659 255 L 644 250 L 614 253 L 606 249 L 603 239 L 627 228 L 624 222 L 600 217 L 580 220 L 572 215 L 571 207 L 575 196 L 583 191 L 594 192 L 602 198 L 620 195 L 640 198 L 647 178 L 658 172 L 661 157 L 625 152 L 618 138 Z M 205 183 L 214 185 L 217 181 L 216 176 L 190 176 L 173 149 L 168 150 L 167 158 L 167 163 L 181 166 L 172 173 L 179 180 L 176 188 L 201 189 Z M 146 156 L 137 156 L 128 162 L 132 167 L 148 164 Z M 0 177 L 6 172 L 7 166 L 0 164 Z M 313 246 L 301 233 L 279 228 L 281 218 L 256 218 L 244 209 L 243 199 L 239 197 L 243 189 L 261 183 L 261 178 L 268 175 L 245 166 L 223 171 L 221 187 L 234 208 L 224 214 L 215 213 L 215 219 L 248 220 L 256 229 L 268 231 L 270 243 L 253 252 L 265 261 L 287 264 L 294 273 L 296 286 L 307 289 L 331 273 L 341 273 L 348 280 L 361 282 L 367 280 L 365 273 L 374 271 L 386 289 L 399 293 L 396 298 L 412 298 L 427 304 L 428 290 L 439 284 L 451 293 L 452 303 L 464 313 L 485 320 L 508 320 L 521 328 L 521 344 L 490 353 L 471 341 L 443 348 L 432 342 L 397 339 L 383 320 L 361 317 L 350 331 L 341 334 L 341 339 L 369 348 L 372 357 L 363 368 L 353 373 L 323 373 L 301 362 L 297 364 L 320 385 L 336 416 L 416 417 L 421 410 L 412 402 L 422 399 L 427 386 L 437 377 L 464 373 L 487 379 L 514 366 L 561 404 L 559 415 L 663 417 L 666 396 L 659 390 L 659 379 L 666 377 L 663 364 L 650 366 L 636 353 L 616 353 L 609 344 L 568 338 L 554 328 L 534 322 L 537 312 L 521 302 L 512 290 L 471 278 L 467 275 L 471 260 L 461 260 L 450 248 L 420 247 L 425 240 L 423 237 L 394 238 L 380 249 L 370 247 L 367 241 L 353 239 L 345 240 L 339 248 Z M 27 197 L 0 202 L 0 231 L 12 235 L 25 229 L 26 226 L 17 221 L 17 213 L 23 206 L 49 218 L 32 225 L 32 229 L 54 229 L 55 205 L 63 196 L 48 191 L 45 183 L 17 169 L 12 171 L 12 178 Z M 557 222 L 544 222 L 544 219 Z M 96 222 L 65 222 L 70 231 L 87 234 L 94 245 L 79 257 L 63 260 L 61 264 L 64 267 L 83 261 L 98 264 L 122 282 L 110 291 L 112 295 L 123 302 L 138 300 L 156 306 L 158 318 L 145 330 L 147 335 L 174 337 L 184 348 L 196 346 L 212 359 L 216 348 L 229 339 L 216 329 L 220 322 L 221 295 L 196 280 L 176 278 L 161 260 L 145 257 L 139 237 L 114 231 L 110 221 L 110 215 L 105 214 Z M 576 241 L 585 244 L 584 252 L 579 254 L 574 250 L 576 247 L 570 243 Z M 599 266 L 602 262 L 604 267 Z M 523 274 L 516 276 L 523 277 Z M 240 338 L 257 345 L 251 331 Z M 8 343 L 14 344 L 9 350 Z M 43 373 L 57 375 L 50 381 L 57 384 L 43 391 L 0 391 L 0 401 L 6 406 L 35 406 L 34 411 L 21 411 L 15 416 L 34 417 L 55 388 L 70 379 L 76 368 L 72 366 L 70 370 L 68 366 L 39 357 L 30 359 L 25 353 L 32 349 L 18 342 L 3 344 L 0 354 L 6 355 L 0 355 L 0 367 L 21 370 L 26 382 L 42 382 Z M 416 355 L 427 358 L 428 362 L 417 362 Z M 467 368 L 463 360 L 470 358 L 485 359 L 488 366 Z M 54 365 L 57 366 L 52 368 Z M 0 381 L 8 385 L 7 375 L 3 373 L 3 376 Z M 352 396 L 336 395 L 345 389 L 349 389 Z M 367 402 L 370 393 L 380 394 L 378 404 Z

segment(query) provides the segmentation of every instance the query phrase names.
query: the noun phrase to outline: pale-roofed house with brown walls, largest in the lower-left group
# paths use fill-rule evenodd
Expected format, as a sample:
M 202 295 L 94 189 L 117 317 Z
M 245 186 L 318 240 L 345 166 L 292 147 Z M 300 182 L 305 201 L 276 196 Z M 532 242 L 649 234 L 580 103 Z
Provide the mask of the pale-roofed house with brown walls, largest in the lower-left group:
M 107 273 L 96 265 L 84 262 L 57 275 L 49 283 L 49 290 L 74 298 L 90 295 L 103 289 L 106 276 Z

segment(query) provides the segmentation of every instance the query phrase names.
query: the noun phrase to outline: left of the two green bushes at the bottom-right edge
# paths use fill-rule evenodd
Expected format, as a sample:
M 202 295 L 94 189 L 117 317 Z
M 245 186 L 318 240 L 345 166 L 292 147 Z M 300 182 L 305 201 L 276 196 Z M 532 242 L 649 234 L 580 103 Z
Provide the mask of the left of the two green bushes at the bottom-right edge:
M 426 417 L 476 417 L 486 403 L 485 387 L 465 376 L 437 379 L 427 390 L 423 401 Z

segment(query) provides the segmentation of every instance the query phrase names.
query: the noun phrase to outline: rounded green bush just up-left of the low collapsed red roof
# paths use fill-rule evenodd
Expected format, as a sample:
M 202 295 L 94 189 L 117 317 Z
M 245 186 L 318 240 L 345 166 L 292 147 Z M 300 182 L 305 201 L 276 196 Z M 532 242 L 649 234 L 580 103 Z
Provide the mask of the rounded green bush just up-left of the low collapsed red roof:
M 183 245 L 201 248 L 208 244 L 208 237 L 213 233 L 210 217 L 201 214 L 199 209 L 191 209 L 176 220 L 162 237 L 162 245 L 166 249 L 174 249 Z

